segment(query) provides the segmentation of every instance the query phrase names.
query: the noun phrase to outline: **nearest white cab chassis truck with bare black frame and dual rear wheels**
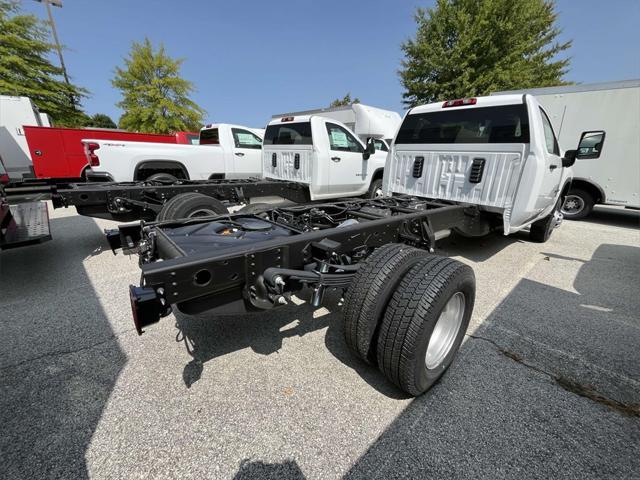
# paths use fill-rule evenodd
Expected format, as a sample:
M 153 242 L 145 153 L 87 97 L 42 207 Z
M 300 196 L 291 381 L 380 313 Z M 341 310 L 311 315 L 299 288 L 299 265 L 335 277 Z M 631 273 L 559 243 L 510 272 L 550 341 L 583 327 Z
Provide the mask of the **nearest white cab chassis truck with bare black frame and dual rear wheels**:
M 297 124 L 315 135 L 313 122 Z M 326 122 L 316 124 L 323 134 Z M 296 152 L 300 145 L 271 153 L 276 163 L 298 153 L 302 170 L 313 154 Z M 575 150 L 561 154 L 531 96 L 448 101 L 406 114 L 387 162 L 389 196 L 122 226 L 107 239 L 139 255 L 141 283 L 129 296 L 140 334 L 172 308 L 269 310 L 305 287 L 319 306 L 327 288 L 338 289 L 349 348 L 420 395 L 453 361 L 475 299 L 473 270 L 435 254 L 437 239 L 453 229 L 473 235 L 529 225 L 533 240 L 546 241 L 574 160 Z

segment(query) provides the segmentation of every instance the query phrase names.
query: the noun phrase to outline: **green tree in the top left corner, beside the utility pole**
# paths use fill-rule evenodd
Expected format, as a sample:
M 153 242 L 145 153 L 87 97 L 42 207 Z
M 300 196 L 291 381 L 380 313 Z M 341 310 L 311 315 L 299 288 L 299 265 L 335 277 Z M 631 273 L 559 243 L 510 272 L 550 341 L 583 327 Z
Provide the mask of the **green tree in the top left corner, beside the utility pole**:
M 58 125 L 77 126 L 78 102 L 87 91 L 62 78 L 49 60 L 54 46 L 46 22 L 20 13 L 18 2 L 0 0 L 0 94 L 29 97 Z

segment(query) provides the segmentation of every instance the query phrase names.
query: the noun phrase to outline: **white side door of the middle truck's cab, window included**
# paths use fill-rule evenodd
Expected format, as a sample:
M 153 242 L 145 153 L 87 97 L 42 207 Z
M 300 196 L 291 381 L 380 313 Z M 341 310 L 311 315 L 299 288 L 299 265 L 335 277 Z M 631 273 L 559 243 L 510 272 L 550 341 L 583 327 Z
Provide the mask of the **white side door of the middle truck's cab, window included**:
M 359 195 L 366 190 L 367 160 L 364 146 L 347 129 L 326 123 L 329 136 L 329 193 Z

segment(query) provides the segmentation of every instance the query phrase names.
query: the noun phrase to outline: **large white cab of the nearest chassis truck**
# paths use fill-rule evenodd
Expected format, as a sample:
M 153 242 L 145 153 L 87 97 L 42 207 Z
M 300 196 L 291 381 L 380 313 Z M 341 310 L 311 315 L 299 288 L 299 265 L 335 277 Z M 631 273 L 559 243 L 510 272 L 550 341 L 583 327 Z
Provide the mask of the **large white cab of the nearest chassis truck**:
M 431 103 L 405 115 L 384 190 L 476 205 L 508 235 L 554 213 L 561 220 L 576 152 L 567 153 L 532 95 Z

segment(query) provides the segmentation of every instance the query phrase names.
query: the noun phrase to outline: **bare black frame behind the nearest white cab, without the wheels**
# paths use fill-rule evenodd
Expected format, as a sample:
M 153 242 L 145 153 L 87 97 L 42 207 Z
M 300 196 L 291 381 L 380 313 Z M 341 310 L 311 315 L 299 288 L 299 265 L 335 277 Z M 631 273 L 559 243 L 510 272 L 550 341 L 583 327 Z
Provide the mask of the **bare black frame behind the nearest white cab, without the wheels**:
M 433 251 L 440 236 L 479 215 L 474 207 L 402 196 L 142 222 L 106 234 L 112 249 L 140 256 L 141 284 L 130 295 L 142 333 L 171 304 L 188 314 L 270 309 L 308 286 L 319 305 L 326 288 L 349 286 L 375 248 L 400 242 Z

